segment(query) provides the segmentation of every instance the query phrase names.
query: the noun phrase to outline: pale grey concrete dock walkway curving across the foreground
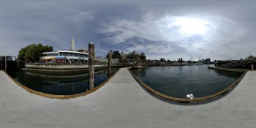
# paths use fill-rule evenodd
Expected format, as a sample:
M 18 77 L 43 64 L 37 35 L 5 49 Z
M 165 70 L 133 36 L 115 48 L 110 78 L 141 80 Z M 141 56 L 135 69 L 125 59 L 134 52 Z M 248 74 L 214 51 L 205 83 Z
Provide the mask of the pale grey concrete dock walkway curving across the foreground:
M 225 97 L 202 105 L 153 97 L 123 68 L 94 93 L 75 99 L 31 94 L 0 71 L 0 127 L 256 127 L 256 72 Z

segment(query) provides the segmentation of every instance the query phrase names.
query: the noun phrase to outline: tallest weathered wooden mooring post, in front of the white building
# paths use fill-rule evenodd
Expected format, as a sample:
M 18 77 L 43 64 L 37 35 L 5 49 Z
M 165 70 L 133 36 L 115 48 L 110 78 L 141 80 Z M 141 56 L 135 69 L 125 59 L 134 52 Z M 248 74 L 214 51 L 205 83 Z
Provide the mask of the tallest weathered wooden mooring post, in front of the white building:
M 89 43 L 89 89 L 94 88 L 94 43 Z

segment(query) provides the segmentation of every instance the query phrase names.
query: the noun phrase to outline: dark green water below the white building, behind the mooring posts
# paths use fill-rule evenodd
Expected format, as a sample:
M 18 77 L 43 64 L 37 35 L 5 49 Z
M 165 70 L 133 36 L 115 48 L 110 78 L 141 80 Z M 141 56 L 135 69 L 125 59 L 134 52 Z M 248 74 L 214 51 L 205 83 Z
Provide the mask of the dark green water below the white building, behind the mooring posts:
M 118 69 L 112 69 L 113 75 Z M 79 94 L 89 89 L 88 74 L 50 75 L 35 72 L 12 72 L 9 75 L 24 86 L 46 94 L 68 95 Z M 108 78 L 108 70 L 96 72 L 94 87 Z

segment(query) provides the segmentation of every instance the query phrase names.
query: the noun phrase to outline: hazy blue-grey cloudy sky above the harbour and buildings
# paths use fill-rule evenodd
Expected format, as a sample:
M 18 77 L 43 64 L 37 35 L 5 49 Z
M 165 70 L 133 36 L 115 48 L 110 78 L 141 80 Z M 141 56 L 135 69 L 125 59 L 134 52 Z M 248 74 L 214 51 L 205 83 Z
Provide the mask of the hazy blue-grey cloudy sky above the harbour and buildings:
M 147 59 L 256 56 L 255 0 L 0 0 L 0 56 L 31 43 L 145 53 Z M 191 57 L 193 56 L 193 57 Z

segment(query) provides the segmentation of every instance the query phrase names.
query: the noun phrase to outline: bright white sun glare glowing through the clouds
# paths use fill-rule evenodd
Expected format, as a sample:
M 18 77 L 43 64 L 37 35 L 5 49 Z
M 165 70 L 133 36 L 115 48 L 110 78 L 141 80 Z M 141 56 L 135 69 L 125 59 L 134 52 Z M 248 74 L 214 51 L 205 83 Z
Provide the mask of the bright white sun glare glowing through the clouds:
M 207 31 L 206 20 L 201 20 L 199 18 L 176 18 L 171 26 L 176 26 L 181 34 L 203 35 Z

